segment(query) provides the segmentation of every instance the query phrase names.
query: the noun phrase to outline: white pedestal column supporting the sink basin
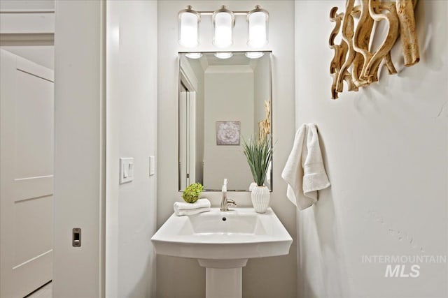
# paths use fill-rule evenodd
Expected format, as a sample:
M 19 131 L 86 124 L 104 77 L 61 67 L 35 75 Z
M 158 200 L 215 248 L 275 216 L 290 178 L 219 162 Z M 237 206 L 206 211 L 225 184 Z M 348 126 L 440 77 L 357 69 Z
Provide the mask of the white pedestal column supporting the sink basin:
M 242 297 L 242 269 L 247 259 L 236 260 L 204 260 L 199 264 L 205 269 L 205 297 L 206 298 L 241 298 Z

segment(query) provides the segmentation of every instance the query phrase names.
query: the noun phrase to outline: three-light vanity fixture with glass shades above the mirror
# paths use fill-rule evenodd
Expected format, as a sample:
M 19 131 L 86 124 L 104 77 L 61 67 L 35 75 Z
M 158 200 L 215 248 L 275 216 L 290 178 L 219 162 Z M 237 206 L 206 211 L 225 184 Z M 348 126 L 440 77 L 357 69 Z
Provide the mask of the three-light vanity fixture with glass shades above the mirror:
M 247 45 L 254 49 L 264 47 L 268 43 L 267 24 L 269 13 L 267 10 L 255 6 L 250 11 L 232 11 L 221 6 L 215 11 L 195 11 L 191 6 L 179 11 L 179 44 L 183 47 L 197 47 L 199 45 L 199 23 L 202 15 L 211 15 L 213 23 L 213 45 L 218 48 L 230 47 L 233 44 L 233 27 L 235 16 L 243 15 L 247 21 Z

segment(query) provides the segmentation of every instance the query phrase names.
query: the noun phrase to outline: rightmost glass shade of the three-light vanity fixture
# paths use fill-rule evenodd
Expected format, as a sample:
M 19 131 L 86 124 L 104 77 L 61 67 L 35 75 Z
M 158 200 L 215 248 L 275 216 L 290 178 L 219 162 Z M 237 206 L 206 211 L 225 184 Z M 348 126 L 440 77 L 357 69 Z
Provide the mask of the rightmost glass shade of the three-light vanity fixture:
M 255 6 L 247 15 L 249 47 L 259 48 L 267 45 L 267 24 L 269 13 L 267 10 Z

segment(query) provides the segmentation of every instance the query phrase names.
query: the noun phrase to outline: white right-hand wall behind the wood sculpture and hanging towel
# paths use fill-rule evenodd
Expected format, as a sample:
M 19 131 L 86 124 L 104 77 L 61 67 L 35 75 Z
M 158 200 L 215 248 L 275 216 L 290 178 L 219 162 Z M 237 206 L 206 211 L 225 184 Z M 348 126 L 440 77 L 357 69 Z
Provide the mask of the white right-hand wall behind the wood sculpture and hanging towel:
M 295 2 L 296 125 L 318 124 L 332 184 L 299 212 L 299 297 L 447 297 L 446 263 L 385 278 L 387 262 L 361 258 L 447 255 L 448 2 L 416 7 L 419 64 L 402 66 L 398 41 L 398 75 L 382 70 L 379 83 L 331 100 L 335 4 L 344 10 L 343 1 Z

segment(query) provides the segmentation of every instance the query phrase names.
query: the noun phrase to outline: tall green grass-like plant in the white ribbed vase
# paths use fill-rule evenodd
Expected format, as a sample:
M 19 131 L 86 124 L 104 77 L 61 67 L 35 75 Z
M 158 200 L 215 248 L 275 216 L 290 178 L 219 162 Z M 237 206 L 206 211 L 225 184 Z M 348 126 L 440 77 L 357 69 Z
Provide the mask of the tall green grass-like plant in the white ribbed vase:
M 253 181 L 258 186 L 262 186 L 265 183 L 267 168 L 272 161 L 270 138 L 255 139 L 252 137 L 247 142 L 243 139 L 243 150 L 251 168 Z

